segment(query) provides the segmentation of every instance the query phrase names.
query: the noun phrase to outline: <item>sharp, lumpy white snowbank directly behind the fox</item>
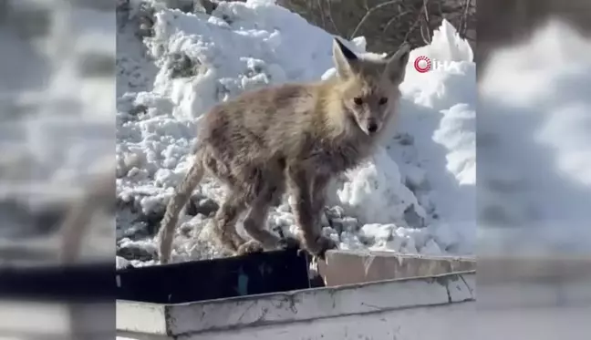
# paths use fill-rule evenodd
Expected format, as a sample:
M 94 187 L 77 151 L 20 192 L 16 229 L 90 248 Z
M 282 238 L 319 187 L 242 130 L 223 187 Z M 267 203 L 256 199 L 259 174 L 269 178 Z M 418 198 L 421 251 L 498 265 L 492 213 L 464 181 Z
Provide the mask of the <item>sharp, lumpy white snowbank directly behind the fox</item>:
M 245 90 L 328 77 L 334 72 L 333 36 L 273 1 L 223 2 L 212 15 L 183 13 L 149 0 L 131 4 L 129 12 L 119 14 L 125 20 L 117 48 L 118 252 L 133 248 L 153 254 L 154 231 L 191 164 L 202 114 Z M 141 38 L 140 22 L 150 22 L 150 7 L 153 36 Z M 385 56 L 366 52 L 364 37 L 345 44 L 363 57 Z M 421 55 L 449 60 L 449 67 L 421 74 L 412 66 Z M 335 181 L 323 232 L 342 249 L 472 253 L 472 50 L 444 22 L 433 43 L 411 51 L 410 60 L 397 124 L 388 128 L 391 133 L 371 160 Z M 193 208 L 207 214 L 223 190 L 205 179 L 194 197 Z M 286 201 L 269 212 L 268 224 L 286 234 L 296 231 Z M 244 234 L 240 225 L 239 232 Z M 172 255 L 173 261 L 222 255 L 210 238 L 208 218 L 181 217 Z M 149 257 L 131 262 L 154 263 Z

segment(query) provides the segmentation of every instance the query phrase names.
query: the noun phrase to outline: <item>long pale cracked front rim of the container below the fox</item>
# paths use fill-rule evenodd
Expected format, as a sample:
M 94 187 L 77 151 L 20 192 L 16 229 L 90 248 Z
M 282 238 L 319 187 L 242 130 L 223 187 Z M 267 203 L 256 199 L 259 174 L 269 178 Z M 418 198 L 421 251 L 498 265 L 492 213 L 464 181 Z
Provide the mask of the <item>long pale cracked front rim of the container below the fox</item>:
M 261 325 L 371 314 L 475 300 L 475 272 L 252 295 L 195 304 L 117 302 L 119 335 L 189 336 Z

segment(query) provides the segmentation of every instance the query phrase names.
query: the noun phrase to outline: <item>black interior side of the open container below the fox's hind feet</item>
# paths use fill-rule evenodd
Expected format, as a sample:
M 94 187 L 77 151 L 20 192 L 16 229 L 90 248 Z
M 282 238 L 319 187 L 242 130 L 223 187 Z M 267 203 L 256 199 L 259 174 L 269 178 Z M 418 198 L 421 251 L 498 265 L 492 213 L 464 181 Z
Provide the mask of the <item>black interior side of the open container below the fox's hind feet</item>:
M 296 250 L 117 271 L 117 298 L 181 304 L 310 287 L 308 259 Z

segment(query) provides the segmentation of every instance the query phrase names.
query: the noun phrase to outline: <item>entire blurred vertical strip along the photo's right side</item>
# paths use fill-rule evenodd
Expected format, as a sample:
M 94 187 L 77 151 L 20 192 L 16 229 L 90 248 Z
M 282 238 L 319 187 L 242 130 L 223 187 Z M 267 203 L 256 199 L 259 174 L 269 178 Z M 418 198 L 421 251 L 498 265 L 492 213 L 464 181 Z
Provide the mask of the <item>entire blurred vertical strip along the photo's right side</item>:
M 591 3 L 478 3 L 478 339 L 591 325 Z M 482 47 L 482 48 L 481 48 Z

